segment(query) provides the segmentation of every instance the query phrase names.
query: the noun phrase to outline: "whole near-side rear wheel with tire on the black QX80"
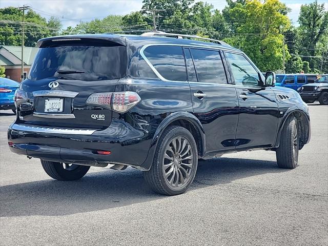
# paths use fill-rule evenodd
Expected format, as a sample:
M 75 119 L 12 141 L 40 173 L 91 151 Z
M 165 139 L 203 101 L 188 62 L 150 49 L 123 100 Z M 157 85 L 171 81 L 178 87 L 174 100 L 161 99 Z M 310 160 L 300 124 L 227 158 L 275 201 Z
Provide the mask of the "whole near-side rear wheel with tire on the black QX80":
M 173 146 L 174 141 L 175 146 Z M 186 155 L 189 157 L 187 160 Z M 169 127 L 158 140 L 152 167 L 144 172 L 144 178 L 156 193 L 181 194 L 188 189 L 195 178 L 197 157 L 197 146 L 193 135 L 186 128 Z

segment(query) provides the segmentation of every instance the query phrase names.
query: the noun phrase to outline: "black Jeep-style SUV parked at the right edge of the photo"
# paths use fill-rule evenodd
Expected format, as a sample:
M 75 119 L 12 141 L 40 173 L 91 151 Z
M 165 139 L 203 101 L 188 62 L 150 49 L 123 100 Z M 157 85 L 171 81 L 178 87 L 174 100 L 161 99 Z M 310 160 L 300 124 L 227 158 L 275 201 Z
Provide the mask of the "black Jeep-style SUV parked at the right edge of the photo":
M 304 85 L 298 89 L 305 103 L 319 100 L 322 105 L 328 105 L 328 74 L 322 74 L 315 83 Z

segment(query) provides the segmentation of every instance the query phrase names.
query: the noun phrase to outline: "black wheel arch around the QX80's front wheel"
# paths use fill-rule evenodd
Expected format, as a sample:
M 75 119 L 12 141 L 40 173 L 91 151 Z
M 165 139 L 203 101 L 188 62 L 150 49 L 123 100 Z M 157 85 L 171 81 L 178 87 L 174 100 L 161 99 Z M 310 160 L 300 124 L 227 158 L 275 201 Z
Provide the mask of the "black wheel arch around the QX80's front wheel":
M 280 122 L 277 132 L 277 138 L 275 142 L 275 148 L 279 147 L 282 129 L 286 124 L 286 120 L 291 116 L 294 116 L 297 119 L 298 129 L 300 130 L 299 149 L 302 149 L 303 146 L 308 144 L 308 142 L 310 141 L 311 125 L 310 125 L 309 113 L 303 110 L 302 108 L 292 107 L 285 112 L 284 117 Z

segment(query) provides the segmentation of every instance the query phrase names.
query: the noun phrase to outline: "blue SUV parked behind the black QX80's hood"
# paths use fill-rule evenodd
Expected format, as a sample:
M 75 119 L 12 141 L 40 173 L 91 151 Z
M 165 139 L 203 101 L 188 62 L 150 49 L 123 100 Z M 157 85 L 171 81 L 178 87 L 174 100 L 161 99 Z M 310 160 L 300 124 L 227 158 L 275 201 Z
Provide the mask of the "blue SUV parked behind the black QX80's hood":
M 297 91 L 298 88 L 314 83 L 317 79 L 316 74 L 276 74 L 276 86 L 291 88 Z

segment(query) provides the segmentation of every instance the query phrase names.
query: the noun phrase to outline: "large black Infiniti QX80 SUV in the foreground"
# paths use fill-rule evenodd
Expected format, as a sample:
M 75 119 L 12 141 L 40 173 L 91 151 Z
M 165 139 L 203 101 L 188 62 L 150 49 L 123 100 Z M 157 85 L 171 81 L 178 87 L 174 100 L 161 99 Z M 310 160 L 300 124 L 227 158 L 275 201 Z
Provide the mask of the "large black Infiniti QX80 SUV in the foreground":
M 58 180 L 79 179 L 90 166 L 132 166 L 166 195 L 187 190 L 200 158 L 265 149 L 276 151 L 280 168 L 295 168 L 310 139 L 308 106 L 240 50 L 200 39 L 160 32 L 40 39 L 15 93 L 10 150 L 40 158 Z

